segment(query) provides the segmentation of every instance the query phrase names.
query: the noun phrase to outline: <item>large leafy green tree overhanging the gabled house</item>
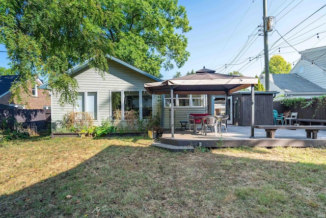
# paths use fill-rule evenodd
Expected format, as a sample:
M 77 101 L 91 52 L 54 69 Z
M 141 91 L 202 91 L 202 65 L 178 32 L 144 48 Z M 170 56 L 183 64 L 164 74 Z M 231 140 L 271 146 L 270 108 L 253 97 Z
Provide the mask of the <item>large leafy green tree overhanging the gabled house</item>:
M 161 67 L 181 67 L 189 57 L 184 33 L 191 27 L 175 0 L 0 3 L 0 43 L 21 76 L 15 85 L 28 90 L 26 81 L 47 77 L 62 105 L 76 103 L 78 84 L 67 70 L 86 60 L 101 76 L 110 73 L 108 55 L 159 77 Z

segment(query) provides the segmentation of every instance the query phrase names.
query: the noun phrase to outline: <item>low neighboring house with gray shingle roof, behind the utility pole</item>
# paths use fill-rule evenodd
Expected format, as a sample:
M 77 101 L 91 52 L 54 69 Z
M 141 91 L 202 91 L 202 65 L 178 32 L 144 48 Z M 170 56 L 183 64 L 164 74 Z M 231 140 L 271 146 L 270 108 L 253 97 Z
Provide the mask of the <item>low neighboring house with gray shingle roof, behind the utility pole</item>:
M 265 84 L 265 74 L 259 76 L 260 82 Z M 326 93 L 326 89 L 298 76 L 297 74 L 270 74 L 269 90 L 279 92 L 285 98 L 306 98 L 320 96 Z

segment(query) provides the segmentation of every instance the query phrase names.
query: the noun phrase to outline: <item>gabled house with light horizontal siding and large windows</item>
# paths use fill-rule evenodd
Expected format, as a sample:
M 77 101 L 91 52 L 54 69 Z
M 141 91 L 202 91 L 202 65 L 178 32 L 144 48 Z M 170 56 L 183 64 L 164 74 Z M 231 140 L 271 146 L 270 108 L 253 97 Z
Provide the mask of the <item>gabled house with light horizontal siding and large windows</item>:
M 115 113 L 121 114 L 121 124 L 127 125 L 125 114 L 134 110 L 140 118 L 161 113 L 160 96 L 152 95 L 144 88 L 144 83 L 158 82 L 156 78 L 117 58 L 108 56 L 109 73 L 102 78 L 96 69 L 88 66 L 88 61 L 70 69 L 68 73 L 78 83 L 78 106 L 71 104 L 61 107 L 60 94 L 51 95 L 51 129 L 55 129 L 69 111 L 89 112 L 93 124 L 100 126 L 102 120 L 115 119 Z M 46 87 L 47 83 L 41 88 Z

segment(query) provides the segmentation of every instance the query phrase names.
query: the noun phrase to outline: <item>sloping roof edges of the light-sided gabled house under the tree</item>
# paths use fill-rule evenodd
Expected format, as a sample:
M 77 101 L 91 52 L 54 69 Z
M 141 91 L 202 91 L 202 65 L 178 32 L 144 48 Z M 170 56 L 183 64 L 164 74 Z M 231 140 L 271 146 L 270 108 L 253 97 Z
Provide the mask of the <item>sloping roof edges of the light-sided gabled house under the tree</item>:
M 159 78 L 157 78 L 157 77 L 154 77 L 154 76 L 151 75 L 151 74 L 148 74 L 148 72 L 145 72 L 145 71 L 143 71 L 143 70 L 141 70 L 141 69 L 139 69 L 139 68 L 137 68 L 137 67 L 134 67 L 134 66 L 132 66 L 131 64 L 128 64 L 128 63 L 126 63 L 126 62 L 124 62 L 124 61 L 122 61 L 122 60 L 120 60 L 120 59 L 118 59 L 118 58 L 112 57 L 112 56 L 110 56 L 110 55 L 107 55 L 107 58 L 110 59 L 110 60 L 113 60 L 113 61 L 115 61 L 115 62 L 117 62 L 117 63 L 119 63 L 119 64 L 121 64 L 121 65 L 123 65 L 123 66 L 126 66 L 126 67 L 128 67 L 128 68 L 130 68 L 130 69 L 132 69 L 132 70 L 134 70 L 134 71 L 136 71 L 136 72 L 139 72 L 140 74 L 142 74 L 142 75 L 144 75 L 144 76 L 146 76 L 146 77 L 149 77 L 149 78 L 151 78 L 151 79 L 153 79 L 153 80 L 155 80 L 155 81 L 157 81 L 157 82 L 161 82 L 161 81 L 163 81 L 163 80 L 161 80 L 161 79 L 159 79 Z M 74 75 L 74 74 L 76 74 L 76 72 L 78 72 L 78 71 L 80 71 L 80 70 L 82 70 L 82 69 L 88 67 L 88 63 L 89 63 L 89 62 L 90 62 L 90 60 L 87 60 L 87 61 L 85 61 L 85 62 L 83 62 L 83 63 L 80 63 L 80 64 L 78 64 L 78 65 L 72 67 L 71 69 L 69 69 L 69 70 L 67 71 L 67 73 L 68 73 L 70 76 L 71 76 L 71 75 Z M 46 89 L 46 88 L 47 88 L 47 85 L 48 85 L 48 82 L 45 82 L 45 83 L 43 83 L 42 85 L 40 85 L 39 88 L 40 88 L 40 89 Z

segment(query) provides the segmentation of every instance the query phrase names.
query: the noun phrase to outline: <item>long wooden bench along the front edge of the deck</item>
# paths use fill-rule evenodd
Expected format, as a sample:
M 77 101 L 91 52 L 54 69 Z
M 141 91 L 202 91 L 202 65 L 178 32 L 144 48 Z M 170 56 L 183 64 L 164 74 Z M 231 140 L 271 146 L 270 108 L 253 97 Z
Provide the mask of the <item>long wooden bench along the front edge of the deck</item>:
M 307 133 L 307 138 L 317 139 L 319 130 L 326 130 L 326 126 L 268 126 L 268 125 L 255 125 L 257 129 L 265 129 L 267 138 L 275 138 L 275 131 L 277 129 L 297 130 L 304 129 Z

